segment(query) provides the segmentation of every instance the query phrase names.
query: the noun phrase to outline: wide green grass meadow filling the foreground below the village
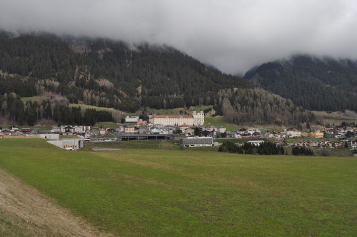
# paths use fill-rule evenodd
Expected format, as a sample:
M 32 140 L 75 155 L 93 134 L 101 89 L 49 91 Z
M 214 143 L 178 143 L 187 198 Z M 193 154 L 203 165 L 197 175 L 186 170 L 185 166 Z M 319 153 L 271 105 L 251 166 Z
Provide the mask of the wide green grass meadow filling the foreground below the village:
M 353 157 L 65 151 L 37 139 L 1 139 L 0 151 L 1 168 L 119 236 L 357 235 Z

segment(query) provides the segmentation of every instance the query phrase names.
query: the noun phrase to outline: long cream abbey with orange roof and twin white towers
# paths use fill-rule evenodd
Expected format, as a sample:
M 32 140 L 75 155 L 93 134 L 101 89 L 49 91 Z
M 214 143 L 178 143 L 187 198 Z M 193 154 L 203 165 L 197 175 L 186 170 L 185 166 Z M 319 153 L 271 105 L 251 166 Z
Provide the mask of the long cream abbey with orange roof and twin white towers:
M 151 124 L 162 124 L 164 126 L 202 126 L 205 123 L 205 115 L 203 110 L 196 112 L 194 110 L 192 115 L 186 114 L 155 114 L 149 118 Z

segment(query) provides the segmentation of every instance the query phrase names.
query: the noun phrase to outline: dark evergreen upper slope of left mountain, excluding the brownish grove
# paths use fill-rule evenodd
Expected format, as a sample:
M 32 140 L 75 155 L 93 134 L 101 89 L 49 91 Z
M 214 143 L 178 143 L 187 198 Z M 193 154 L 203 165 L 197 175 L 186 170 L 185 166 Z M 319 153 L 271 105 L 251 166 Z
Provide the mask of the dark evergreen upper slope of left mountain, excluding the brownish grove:
M 238 77 L 207 69 L 167 46 L 128 46 L 109 39 L 20 35 L 0 38 L 0 93 L 47 92 L 70 102 L 136 111 L 213 104 L 225 87 L 250 87 Z

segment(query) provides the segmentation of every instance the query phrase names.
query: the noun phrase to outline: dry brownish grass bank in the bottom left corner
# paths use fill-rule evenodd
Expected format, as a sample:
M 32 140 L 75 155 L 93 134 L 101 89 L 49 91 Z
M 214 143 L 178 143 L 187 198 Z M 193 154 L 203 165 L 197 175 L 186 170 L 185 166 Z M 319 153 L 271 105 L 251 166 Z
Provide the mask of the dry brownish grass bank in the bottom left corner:
M 0 236 L 110 236 L 0 169 Z

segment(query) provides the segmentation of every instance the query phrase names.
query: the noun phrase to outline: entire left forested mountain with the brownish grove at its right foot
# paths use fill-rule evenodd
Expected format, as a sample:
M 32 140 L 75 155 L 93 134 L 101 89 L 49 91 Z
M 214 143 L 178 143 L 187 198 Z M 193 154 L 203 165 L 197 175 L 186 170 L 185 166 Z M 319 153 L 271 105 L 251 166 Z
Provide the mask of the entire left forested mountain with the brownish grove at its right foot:
M 252 90 L 247 80 L 168 46 L 2 32 L 0 70 L 0 117 L 11 123 L 33 125 L 46 118 L 58 124 L 93 124 L 110 117 L 68 108 L 69 103 L 127 112 L 215 105 L 217 114 L 237 124 L 314 121 L 290 100 Z M 24 104 L 21 97 L 30 96 L 43 99 Z

